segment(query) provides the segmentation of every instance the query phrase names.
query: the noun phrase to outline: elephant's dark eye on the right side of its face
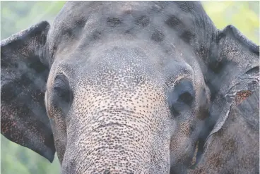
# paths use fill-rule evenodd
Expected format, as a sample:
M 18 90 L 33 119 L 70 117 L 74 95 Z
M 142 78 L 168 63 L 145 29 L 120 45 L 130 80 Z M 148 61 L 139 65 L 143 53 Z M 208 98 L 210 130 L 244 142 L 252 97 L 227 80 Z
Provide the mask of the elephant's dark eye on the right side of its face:
M 168 97 L 168 104 L 173 117 L 180 116 L 182 112 L 191 108 L 194 101 L 194 88 L 191 80 L 177 82 Z

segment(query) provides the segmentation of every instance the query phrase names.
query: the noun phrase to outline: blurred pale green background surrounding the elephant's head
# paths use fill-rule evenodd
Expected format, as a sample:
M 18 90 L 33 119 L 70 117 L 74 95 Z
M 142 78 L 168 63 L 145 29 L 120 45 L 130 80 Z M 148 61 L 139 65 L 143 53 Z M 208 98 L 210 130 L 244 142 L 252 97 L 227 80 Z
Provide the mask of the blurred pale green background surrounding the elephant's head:
M 50 23 L 65 1 L 1 1 L 1 39 L 40 22 Z M 218 29 L 235 25 L 259 44 L 259 1 L 203 1 L 206 12 Z M 35 152 L 8 141 L 1 135 L 1 174 L 60 173 L 57 156 L 49 163 Z

